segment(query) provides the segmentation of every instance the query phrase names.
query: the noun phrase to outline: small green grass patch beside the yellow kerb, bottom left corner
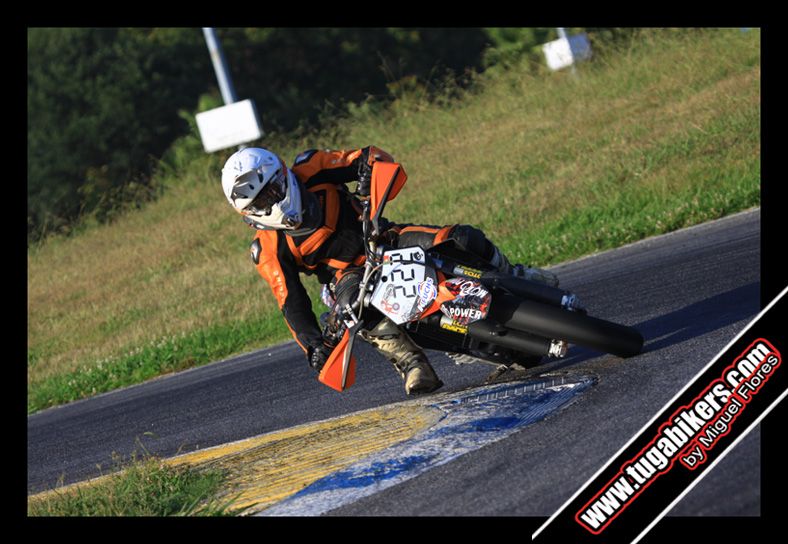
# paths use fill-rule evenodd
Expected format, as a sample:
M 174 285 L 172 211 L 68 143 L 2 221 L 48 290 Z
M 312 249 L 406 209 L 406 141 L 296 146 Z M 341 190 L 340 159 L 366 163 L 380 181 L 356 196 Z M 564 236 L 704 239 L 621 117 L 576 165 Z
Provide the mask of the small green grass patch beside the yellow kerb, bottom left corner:
M 28 499 L 29 516 L 232 516 L 231 502 L 214 498 L 225 476 L 172 467 L 146 456 L 96 481 Z

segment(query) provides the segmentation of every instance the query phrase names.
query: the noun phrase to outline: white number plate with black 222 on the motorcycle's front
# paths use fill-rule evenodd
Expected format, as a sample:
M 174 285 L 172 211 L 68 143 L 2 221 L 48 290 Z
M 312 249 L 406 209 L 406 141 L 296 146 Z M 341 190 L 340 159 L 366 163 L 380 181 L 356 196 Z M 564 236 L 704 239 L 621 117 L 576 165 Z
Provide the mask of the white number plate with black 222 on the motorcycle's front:
M 397 325 L 418 319 L 438 294 L 435 272 L 424 263 L 418 246 L 383 254 L 371 304 Z

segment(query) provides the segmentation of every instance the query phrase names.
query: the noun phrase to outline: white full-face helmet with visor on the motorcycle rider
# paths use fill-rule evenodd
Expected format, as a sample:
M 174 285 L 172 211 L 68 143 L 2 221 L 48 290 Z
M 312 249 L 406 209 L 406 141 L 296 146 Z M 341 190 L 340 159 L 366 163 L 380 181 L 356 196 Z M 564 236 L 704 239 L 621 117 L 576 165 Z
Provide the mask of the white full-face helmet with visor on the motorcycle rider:
M 297 229 L 303 221 L 298 180 L 267 149 L 248 147 L 233 153 L 222 168 L 227 201 L 260 229 Z

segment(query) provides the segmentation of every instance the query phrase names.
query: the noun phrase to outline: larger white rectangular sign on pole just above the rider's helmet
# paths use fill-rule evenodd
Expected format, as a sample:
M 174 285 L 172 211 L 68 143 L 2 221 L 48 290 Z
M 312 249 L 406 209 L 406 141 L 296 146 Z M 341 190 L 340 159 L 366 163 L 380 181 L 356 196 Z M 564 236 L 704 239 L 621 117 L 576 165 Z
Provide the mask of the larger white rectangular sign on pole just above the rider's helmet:
M 251 142 L 263 135 L 254 102 L 242 100 L 195 116 L 206 153 Z

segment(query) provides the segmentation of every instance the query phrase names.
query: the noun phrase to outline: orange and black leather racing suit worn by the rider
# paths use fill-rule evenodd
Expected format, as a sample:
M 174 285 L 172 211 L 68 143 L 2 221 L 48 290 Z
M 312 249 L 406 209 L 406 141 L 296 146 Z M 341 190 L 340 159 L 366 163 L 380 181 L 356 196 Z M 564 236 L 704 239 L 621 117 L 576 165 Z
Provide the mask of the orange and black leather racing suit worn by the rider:
M 291 170 L 301 182 L 306 227 L 302 225 L 295 231 L 258 230 L 252 242 L 251 255 L 257 271 L 271 286 L 290 332 L 307 357 L 311 348 L 323 343 L 323 337 L 299 272 L 316 274 L 320 283 L 332 288 L 345 276 L 355 276 L 355 282 L 360 279 L 357 271 L 365 259 L 362 208 L 345 184 L 358 180 L 360 161 L 371 165 L 375 160 L 391 162 L 393 158 L 374 146 L 301 153 Z M 494 250 L 480 230 L 468 225 L 389 223 L 388 228 L 398 236 L 399 247 L 429 248 L 452 238 L 485 259 Z

